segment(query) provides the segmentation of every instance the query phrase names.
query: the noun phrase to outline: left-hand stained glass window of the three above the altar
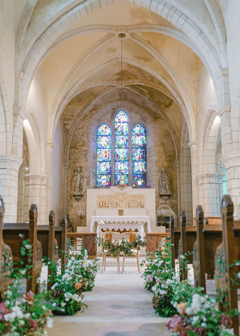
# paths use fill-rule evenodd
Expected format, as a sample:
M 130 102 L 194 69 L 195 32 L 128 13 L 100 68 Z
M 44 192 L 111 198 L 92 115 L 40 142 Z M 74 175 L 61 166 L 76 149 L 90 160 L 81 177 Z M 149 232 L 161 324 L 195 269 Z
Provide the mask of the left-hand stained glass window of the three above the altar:
M 97 187 L 111 185 L 111 130 L 103 124 L 97 129 Z

